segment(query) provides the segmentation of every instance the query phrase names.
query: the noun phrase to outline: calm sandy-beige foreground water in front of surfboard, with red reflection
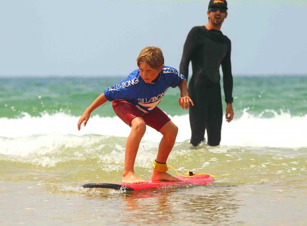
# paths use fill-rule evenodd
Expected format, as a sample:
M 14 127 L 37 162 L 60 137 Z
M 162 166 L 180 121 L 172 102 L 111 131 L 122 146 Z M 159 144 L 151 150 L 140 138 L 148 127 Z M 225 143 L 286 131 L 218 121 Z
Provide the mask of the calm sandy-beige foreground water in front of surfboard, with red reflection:
M 139 192 L 81 191 L 77 184 L 56 192 L 38 185 L 0 184 L 2 225 L 305 225 L 307 220 L 306 184 L 299 181 Z

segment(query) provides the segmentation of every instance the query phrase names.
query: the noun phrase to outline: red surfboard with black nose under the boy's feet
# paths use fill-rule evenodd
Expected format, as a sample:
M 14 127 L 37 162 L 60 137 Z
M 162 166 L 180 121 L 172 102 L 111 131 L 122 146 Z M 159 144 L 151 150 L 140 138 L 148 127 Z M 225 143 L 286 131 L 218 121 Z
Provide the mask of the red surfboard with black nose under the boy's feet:
M 214 178 L 210 175 L 196 175 L 191 177 L 176 176 L 181 179 L 181 181 L 158 181 L 152 182 L 151 179 L 146 180 L 146 183 L 142 184 L 107 184 L 107 183 L 89 183 L 83 184 L 84 188 L 109 188 L 116 190 L 126 190 L 126 191 L 139 191 L 139 190 L 150 190 L 163 188 L 165 186 L 175 185 L 175 186 L 184 186 L 184 185 L 204 185 L 207 183 L 214 182 Z

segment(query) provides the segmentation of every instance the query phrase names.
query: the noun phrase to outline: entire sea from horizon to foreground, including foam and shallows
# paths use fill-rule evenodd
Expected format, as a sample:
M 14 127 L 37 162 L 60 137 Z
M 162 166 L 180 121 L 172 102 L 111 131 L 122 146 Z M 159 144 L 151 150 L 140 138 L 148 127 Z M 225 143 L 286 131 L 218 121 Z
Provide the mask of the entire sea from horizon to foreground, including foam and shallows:
M 82 188 L 121 181 L 130 128 L 110 102 L 80 131 L 77 122 L 123 78 L 0 78 L 0 225 L 306 225 L 306 76 L 234 77 L 235 117 L 217 147 L 189 144 L 188 111 L 177 88 L 167 91 L 158 106 L 179 128 L 168 164 L 216 175 L 214 183 Z M 145 179 L 160 139 L 147 127 L 135 162 Z

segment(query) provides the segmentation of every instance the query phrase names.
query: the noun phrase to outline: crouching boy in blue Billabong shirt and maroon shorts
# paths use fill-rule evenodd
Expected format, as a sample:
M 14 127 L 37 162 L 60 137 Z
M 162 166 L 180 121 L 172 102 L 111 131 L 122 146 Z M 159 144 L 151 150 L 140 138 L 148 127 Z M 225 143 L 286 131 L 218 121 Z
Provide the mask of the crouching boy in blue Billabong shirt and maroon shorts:
M 159 144 L 157 158 L 153 163 L 152 181 L 177 181 L 176 177 L 166 173 L 166 160 L 171 152 L 178 128 L 169 117 L 157 107 L 169 87 L 180 89 L 178 100 L 182 109 L 188 109 L 192 100 L 187 94 L 185 76 L 172 67 L 164 66 L 164 57 L 160 48 L 146 47 L 137 58 L 138 69 L 113 87 L 106 89 L 85 110 L 78 122 L 78 129 L 86 125 L 91 112 L 107 101 L 117 116 L 131 127 L 126 141 L 125 165 L 122 183 L 138 184 L 146 182 L 134 173 L 134 161 L 146 125 L 156 129 L 163 137 Z

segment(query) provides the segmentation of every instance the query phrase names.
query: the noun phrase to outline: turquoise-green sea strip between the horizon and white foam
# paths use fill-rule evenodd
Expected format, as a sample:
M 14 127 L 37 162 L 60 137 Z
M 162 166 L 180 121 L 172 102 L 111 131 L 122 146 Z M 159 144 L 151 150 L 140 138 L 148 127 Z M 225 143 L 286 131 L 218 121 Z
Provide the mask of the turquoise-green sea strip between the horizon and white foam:
M 24 113 L 39 116 L 56 112 L 80 116 L 107 87 L 123 78 L 1 78 L 0 117 L 20 117 Z M 178 97 L 178 89 L 169 89 L 159 107 L 170 115 L 186 114 L 177 104 Z M 236 117 L 245 111 L 253 116 L 261 114 L 262 117 L 274 117 L 272 111 L 303 116 L 307 106 L 307 77 L 235 77 L 233 97 Z M 264 110 L 270 112 L 263 113 Z M 102 117 L 114 116 L 110 103 L 95 113 Z

